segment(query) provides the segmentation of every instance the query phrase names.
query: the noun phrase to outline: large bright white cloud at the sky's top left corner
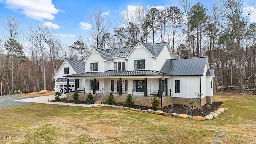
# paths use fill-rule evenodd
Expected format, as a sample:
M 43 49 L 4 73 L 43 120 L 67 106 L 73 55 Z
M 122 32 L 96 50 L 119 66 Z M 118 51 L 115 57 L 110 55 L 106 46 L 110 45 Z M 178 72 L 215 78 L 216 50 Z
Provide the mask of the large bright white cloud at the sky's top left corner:
M 19 12 L 25 16 L 36 20 L 53 20 L 56 9 L 52 0 L 6 0 L 6 7 L 14 12 Z

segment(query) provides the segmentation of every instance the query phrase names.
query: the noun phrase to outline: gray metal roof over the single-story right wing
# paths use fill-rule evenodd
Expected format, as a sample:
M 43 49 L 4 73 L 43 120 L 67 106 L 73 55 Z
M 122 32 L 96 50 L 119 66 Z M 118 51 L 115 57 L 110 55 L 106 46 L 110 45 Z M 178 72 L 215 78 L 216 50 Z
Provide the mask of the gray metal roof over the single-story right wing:
M 160 72 L 172 76 L 202 76 L 207 57 L 166 60 Z

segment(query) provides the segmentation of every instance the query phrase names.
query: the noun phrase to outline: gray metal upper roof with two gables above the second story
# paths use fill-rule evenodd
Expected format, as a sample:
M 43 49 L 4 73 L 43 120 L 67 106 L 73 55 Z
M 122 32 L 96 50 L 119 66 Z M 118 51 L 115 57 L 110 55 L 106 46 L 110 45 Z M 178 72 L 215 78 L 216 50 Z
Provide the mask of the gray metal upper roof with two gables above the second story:
M 140 42 L 140 41 L 139 41 Z M 164 46 L 168 42 L 155 43 L 155 44 L 146 44 L 144 42 L 140 42 L 153 56 L 158 56 L 160 52 L 163 50 Z M 98 52 L 98 54 L 106 61 L 114 60 L 114 57 L 122 57 L 127 56 L 130 51 L 134 48 L 134 46 L 128 46 L 123 48 L 112 48 L 104 50 L 102 48 L 94 47 L 94 50 Z

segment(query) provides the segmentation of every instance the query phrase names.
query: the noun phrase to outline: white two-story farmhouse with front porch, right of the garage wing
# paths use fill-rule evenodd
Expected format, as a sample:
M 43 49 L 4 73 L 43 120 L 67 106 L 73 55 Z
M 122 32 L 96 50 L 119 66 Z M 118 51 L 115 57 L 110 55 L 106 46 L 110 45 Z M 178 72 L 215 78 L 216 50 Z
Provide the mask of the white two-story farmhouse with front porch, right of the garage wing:
M 210 69 L 208 58 L 174 59 L 168 42 L 146 44 L 139 41 L 135 46 L 124 48 L 92 48 L 84 63 L 85 72 L 62 77 L 67 83 L 76 83 L 74 88 L 82 90 L 83 94 L 95 94 L 96 100 L 102 99 L 101 103 L 105 98 L 102 96 L 109 95 L 110 91 L 116 102 L 125 101 L 127 94 L 132 94 L 135 104 L 144 106 L 151 106 L 150 96 L 154 95 L 164 107 L 174 102 L 186 104 L 196 99 L 198 93 L 202 93 L 201 105 L 212 103 L 214 71 Z M 65 66 L 59 70 L 62 73 L 63 68 Z

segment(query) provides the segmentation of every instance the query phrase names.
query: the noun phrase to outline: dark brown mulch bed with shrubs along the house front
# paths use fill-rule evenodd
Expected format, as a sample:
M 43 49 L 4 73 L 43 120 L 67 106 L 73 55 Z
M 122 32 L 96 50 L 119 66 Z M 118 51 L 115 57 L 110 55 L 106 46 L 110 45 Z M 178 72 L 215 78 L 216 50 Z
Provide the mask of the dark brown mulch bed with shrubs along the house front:
M 64 98 L 61 98 L 58 101 L 52 100 L 52 102 L 67 102 L 67 103 L 87 104 L 87 102 L 85 102 L 85 101 L 74 102 L 73 100 L 67 100 L 67 99 L 64 99 Z M 221 104 L 222 104 L 222 102 L 213 102 L 212 104 L 206 104 L 204 106 L 201 106 L 200 108 L 193 110 L 193 115 L 192 116 L 203 116 L 204 117 L 204 116 L 208 115 L 210 112 L 214 112 L 215 110 L 218 110 L 217 108 L 220 107 Z M 117 105 L 117 106 L 126 106 L 125 104 L 120 104 L 120 103 L 116 103 L 115 105 Z M 136 109 L 141 109 L 141 110 L 147 110 L 147 109 L 154 110 L 152 107 L 148 107 L 148 106 L 132 105 L 131 107 L 136 108 Z M 186 106 L 179 105 L 179 104 L 174 104 L 173 107 L 171 105 L 169 105 L 169 106 L 165 106 L 164 108 L 157 108 L 156 110 L 162 110 L 162 111 L 167 112 L 167 113 L 175 112 L 177 114 L 189 114 L 189 115 L 191 115 L 191 113 L 186 109 Z

